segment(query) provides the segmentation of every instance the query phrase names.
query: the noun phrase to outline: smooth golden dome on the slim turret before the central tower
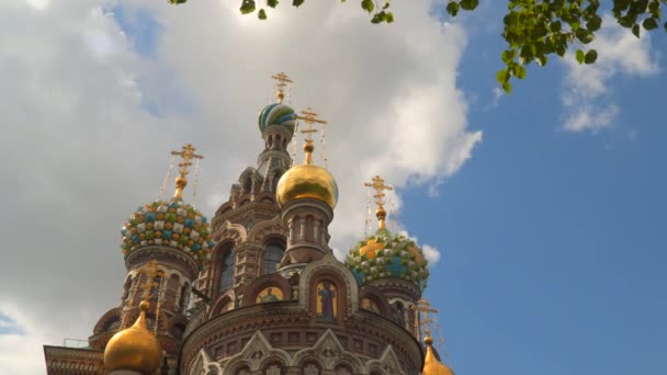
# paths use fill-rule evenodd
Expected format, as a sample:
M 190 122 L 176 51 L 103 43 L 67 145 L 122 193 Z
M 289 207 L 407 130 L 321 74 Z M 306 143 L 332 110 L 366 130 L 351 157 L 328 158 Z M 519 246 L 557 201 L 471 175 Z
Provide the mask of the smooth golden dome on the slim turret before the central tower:
M 336 180 L 325 168 L 313 164 L 313 141 L 306 140 L 305 163 L 292 167 L 281 177 L 275 189 L 279 205 L 283 206 L 298 198 L 315 198 L 325 202 L 331 208 L 336 207 L 338 202 Z

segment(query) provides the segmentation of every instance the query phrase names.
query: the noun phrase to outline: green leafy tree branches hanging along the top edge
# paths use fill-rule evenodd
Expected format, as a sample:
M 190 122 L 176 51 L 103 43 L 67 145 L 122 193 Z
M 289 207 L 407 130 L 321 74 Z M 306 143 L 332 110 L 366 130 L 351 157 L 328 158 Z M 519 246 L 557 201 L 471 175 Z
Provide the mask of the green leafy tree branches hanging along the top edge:
M 169 0 L 172 4 L 188 0 Z M 240 0 L 242 14 L 253 13 L 257 3 L 275 8 L 279 0 Z M 479 0 L 448 0 L 446 12 L 456 16 L 460 11 L 473 11 Z M 607 0 L 613 5 L 612 14 L 617 22 L 629 29 L 636 37 L 641 30 L 652 31 L 659 27 L 662 10 L 667 0 Z M 305 0 L 292 0 L 299 7 Z M 346 0 L 340 0 L 346 2 Z M 392 23 L 394 14 L 389 11 L 389 0 L 360 0 L 362 10 L 372 14 L 372 23 Z M 258 11 L 260 20 L 267 20 L 267 11 Z M 508 46 L 501 54 L 505 65 L 496 73 L 498 83 L 506 92 L 511 92 L 512 77 L 525 78 L 525 66 L 535 61 L 544 66 L 554 54 L 563 57 L 570 47 L 576 47 L 575 57 L 579 64 L 593 64 L 597 50 L 587 45 L 595 39 L 596 32 L 602 26 L 600 0 L 508 0 L 508 12 L 502 19 L 502 38 Z M 667 32 L 667 22 L 663 24 Z

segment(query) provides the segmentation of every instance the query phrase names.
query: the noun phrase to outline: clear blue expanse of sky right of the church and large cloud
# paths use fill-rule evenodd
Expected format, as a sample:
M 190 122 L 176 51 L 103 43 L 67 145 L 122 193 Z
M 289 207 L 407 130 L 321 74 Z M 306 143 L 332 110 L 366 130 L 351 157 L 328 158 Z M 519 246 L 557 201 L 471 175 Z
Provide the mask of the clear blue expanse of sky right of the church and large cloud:
M 618 77 L 621 111 L 592 134 L 563 130 L 555 60 L 485 109 L 502 45 L 471 37 L 459 82 L 484 96 L 484 143 L 438 196 L 404 191 L 402 216 L 442 247 L 427 296 L 457 374 L 667 373 L 667 38 L 652 42 L 663 72 Z

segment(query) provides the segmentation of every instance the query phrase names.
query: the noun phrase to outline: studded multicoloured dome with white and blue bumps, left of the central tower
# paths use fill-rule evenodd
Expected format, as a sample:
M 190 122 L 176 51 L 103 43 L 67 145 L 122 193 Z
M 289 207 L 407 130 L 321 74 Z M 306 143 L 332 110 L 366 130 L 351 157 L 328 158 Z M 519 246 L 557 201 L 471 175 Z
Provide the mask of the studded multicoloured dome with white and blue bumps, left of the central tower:
M 145 247 L 162 246 L 188 253 L 200 269 L 211 259 L 214 246 L 206 217 L 181 198 L 138 207 L 121 234 L 125 258 Z

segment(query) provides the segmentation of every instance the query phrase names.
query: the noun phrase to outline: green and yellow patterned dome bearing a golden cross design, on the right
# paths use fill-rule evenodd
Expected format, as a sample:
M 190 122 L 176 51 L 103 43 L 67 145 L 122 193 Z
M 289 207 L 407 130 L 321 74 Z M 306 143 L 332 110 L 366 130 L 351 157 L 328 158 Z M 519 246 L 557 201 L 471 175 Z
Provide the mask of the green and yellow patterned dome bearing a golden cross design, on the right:
M 403 279 L 423 291 L 429 277 L 428 261 L 415 241 L 404 235 L 378 229 L 350 250 L 346 265 L 360 285 L 373 280 Z

